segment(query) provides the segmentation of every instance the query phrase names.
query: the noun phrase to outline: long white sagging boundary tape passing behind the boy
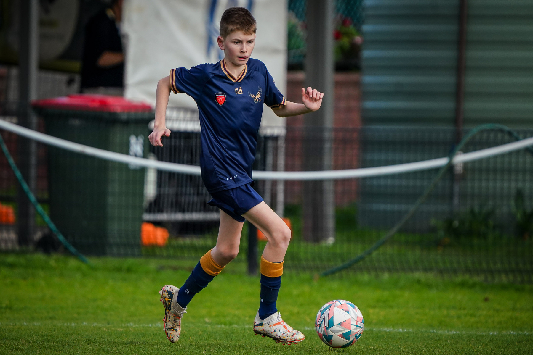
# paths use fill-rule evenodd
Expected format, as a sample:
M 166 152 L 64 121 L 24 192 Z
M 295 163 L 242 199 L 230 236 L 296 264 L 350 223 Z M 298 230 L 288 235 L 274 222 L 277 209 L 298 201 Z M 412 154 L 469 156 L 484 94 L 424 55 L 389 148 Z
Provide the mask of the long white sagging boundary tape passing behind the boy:
M 26 138 L 34 139 L 37 142 L 63 148 L 72 152 L 95 156 L 96 158 L 116 161 L 125 164 L 132 164 L 145 168 L 177 172 L 180 174 L 200 175 L 200 167 L 186 164 L 171 163 L 165 161 L 138 158 L 127 154 L 120 154 L 93 148 L 83 144 L 66 141 L 61 138 L 52 137 L 25 127 L 15 125 L 4 120 L 0 120 L 0 128 L 11 131 Z M 482 149 L 470 153 L 458 154 L 454 157 L 453 163 L 466 163 L 469 161 L 489 158 L 490 156 L 510 153 L 533 145 L 533 137 L 520 141 L 498 145 L 495 147 Z M 358 168 L 344 170 L 324 170 L 324 171 L 254 171 L 253 178 L 256 180 L 332 180 L 351 179 L 371 176 L 383 176 L 400 174 L 403 172 L 420 171 L 440 168 L 448 163 L 447 157 L 417 161 L 413 163 L 396 164 L 384 167 Z

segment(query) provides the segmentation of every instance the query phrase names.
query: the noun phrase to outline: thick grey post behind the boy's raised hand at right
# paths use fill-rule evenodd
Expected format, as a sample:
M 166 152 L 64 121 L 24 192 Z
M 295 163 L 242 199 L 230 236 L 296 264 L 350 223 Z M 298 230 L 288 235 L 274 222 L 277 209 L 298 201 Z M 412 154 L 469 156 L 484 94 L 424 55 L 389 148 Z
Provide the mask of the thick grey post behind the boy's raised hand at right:
M 324 92 L 319 111 L 305 117 L 303 168 L 332 168 L 332 127 L 334 96 L 333 0 L 307 2 L 307 55 L 305 84 Z M 335 238 L 335 200 L 333 181 L 303 183 L 303 238 L 310 242 Z

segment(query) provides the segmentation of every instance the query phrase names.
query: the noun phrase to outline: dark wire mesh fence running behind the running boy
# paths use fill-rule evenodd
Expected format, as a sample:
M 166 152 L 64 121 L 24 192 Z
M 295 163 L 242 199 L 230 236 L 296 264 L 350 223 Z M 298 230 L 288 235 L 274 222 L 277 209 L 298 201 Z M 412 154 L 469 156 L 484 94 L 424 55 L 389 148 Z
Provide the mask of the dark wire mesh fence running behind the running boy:
M 16 105 L 2 119 L 17 122 Z M 70 141 L 149 159 L 199 165 L 197 113 L 168 113 L 172 135 L 149 146 L 148 120 L 115 122 L 78 112 L 39 118 L 38 129 Z M 518 130 L 520 137 L 533 130 Z M 1 131 L 15 160 L 20 137 Z M 317 140 L 322 137 L 322 140 Z M 329 137 L 333 169 L 385 166 L 447 156 L 448 128 L 365 127 L 313 131 L 262 130 L 255 170 L 302 170 L 304 149 Z M 477 135 L 464 152 L 511 142 L 505 134 Z M 216 241 L 218 211 L 200 177 L 104 161 L 37 144 L 35 193 L 61 232 L 87 254 L 145 255 L 197 260 Z M 16 250 L 17 179 L 0 158 L 0 249 Z M 320 272 L 353 258 L 378 240 L 422 193 L 435 170 L 334 181 L 335 238 L 310 242 L 303 235 L 302 181 L 257 181 L 257 191 L 291 224 L 286 268 Z M 527 151 L 455 166 L 415 216 L 375 253 L 349 272 L 432 271 L 531 282 L 533 271 L 533 156 Z M 246 260 L 246 228 L 237 262 Z M 260 237 L 260 236 L 259 236 Z M 260 240 L 261 250 L 265 241 Z M 22 243 L 23 244 L 23 243 Z M 30 246 L 53 251 L 54 241 L 35 218 Z

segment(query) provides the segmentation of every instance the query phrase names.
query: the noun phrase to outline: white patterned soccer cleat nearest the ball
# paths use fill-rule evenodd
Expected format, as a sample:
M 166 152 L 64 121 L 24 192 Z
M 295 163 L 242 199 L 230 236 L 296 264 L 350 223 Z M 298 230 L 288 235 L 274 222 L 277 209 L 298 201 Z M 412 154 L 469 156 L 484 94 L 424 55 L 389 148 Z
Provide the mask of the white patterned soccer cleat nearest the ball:
M 268 336 L 282 344 L 297 344 L 305 339 L 302 332 L 290 327 L 285 320 L 281 319 L 281 314 L 276 312 L 265 319 L 259 318 L 259 312 L 255 316 L 254 333 L 263 337 Z

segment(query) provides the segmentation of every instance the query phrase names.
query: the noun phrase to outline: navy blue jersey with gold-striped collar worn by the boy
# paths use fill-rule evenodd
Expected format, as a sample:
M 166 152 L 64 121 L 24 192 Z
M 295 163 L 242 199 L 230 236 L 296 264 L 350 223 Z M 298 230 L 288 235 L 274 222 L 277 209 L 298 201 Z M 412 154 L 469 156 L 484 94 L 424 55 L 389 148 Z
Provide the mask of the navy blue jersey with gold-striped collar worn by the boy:
M 187 70 L 172 69 L 174 93 L 191 96 L 198 105 L 201 127 L 200 169 L 209 193 L 253 183 L 257 133 L 263 103 L 285 104 L 263 62 L 249 59 L 239 77 L 224 59 Z

